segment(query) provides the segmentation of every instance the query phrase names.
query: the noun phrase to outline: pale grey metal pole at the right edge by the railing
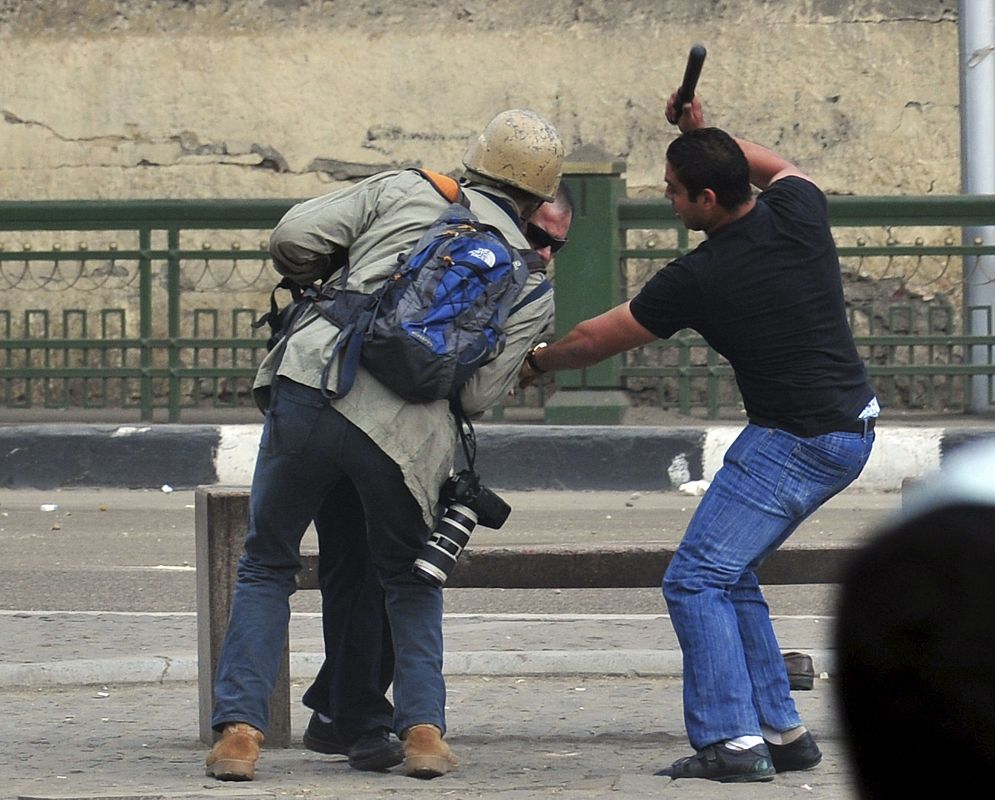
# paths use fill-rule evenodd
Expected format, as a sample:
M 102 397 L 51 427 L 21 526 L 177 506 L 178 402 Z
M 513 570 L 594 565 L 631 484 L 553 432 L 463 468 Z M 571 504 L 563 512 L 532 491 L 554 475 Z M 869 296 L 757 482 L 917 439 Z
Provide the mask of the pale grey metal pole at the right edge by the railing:
M 960 0 L 961 190 L 995 194 L 995 0 Z M 964 244 L 992 244 L 995 227 L 964 229 Z M 995 313 L 995 256 L 964 257 L 964 327 L 991 336 Z M 971 363 L 990 363 L 990 348 L 971 348 Z M 992 377 L 971 378 L 968 408 L 995 411 Z

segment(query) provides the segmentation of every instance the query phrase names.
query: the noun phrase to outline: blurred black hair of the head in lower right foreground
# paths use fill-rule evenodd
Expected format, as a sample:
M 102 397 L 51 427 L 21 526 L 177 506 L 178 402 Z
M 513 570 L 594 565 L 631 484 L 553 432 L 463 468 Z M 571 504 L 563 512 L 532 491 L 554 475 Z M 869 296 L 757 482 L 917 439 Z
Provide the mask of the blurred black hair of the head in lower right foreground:
M 912 797 L 942 770 L 968 797 L 995 771 L 995 506 L 954 503 L 886 528 L 852 559 L 835 643 L 860 797 Z M 922 769 L 918 767 L 921 766 Z

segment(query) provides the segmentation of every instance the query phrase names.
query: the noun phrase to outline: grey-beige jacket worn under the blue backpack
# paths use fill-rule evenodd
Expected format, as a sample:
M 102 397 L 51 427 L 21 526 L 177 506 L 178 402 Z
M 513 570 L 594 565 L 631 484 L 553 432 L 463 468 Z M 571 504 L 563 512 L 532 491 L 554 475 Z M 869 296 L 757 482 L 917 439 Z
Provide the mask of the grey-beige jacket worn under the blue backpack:
M 529 246 L 511 217 L 490 197 L 472 187 L 464 191 L 482 222 L 498 228 L 513 246 Z M 488 192 L 498 194 L 490 188 Z M 371 292 L 393 271 L 397 256 L 415 245 L 446 205 L 413 170 L 380 173 L 291 208 L 270 236 L 274 266 L 282 275 L 309 283 L 324 276 L 333 254 L 345 249 L 350 263 L 347 288 Z M 520 297 L 541 280 L 541 274 L 530 275 Z M 480 414 L 507 395 L 525 354 L 552 315 L 552 292 L 547 292 L 509 318 L 503 352 L 481 367 L 462 391 L 468 414 Z M 274 350 L 260 365 L 254 388 L 268 386 L 275 374 L 320 387 L 338 333 L 337 327 L 321 318 L 295 333 L 287 339 L 282 355 Z M 333 391 L 336 367 L 333 364 L 329 370 L 327 388 Z M 448 402 L 405 402 L 362 367 L 352 390 L 332 402 L 398 465 L 426 524 L 431 524 L 439 488 L 450 474 L 458 442 Z

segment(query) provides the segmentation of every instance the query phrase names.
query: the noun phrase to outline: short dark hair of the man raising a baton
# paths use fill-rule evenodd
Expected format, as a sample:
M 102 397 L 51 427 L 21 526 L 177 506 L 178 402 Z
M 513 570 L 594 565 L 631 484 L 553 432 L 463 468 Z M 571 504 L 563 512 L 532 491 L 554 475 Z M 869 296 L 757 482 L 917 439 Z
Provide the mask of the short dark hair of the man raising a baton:
M 746 156 L 735 139 L 718 128 L 682 133 L 667 148 L 667 161 L 691 200 L 711 189 L 718 204 L 732 211 L 753 193 Z

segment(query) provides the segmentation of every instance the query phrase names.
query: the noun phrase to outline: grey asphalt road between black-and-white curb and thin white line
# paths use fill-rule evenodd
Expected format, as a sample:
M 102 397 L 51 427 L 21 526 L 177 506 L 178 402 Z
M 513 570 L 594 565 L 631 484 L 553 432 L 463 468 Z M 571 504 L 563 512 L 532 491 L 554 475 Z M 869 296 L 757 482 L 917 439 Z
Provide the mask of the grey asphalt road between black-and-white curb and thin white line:
M 677 492 L 507 492 L 514 511 L 474 542 L 502 545 L 676 543 L 698 498 Z M 849 546 L 900 505 L 898 494 L 846 492 L 792 541 Z M 55 506 L 54 509 L 49 509 Z M 304 546 L 316 545 L 309 534 Z M 0 492 L 0 608 L 195 611 L 194 493 L 117 489 Z M 831 614 L 832 586 L 772 586 L 775 614 Z M 447 589 L 459 613 L 659 613 L 656 589 Z M 319 611 L 300 592 L 297 611 Z

